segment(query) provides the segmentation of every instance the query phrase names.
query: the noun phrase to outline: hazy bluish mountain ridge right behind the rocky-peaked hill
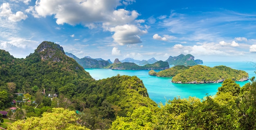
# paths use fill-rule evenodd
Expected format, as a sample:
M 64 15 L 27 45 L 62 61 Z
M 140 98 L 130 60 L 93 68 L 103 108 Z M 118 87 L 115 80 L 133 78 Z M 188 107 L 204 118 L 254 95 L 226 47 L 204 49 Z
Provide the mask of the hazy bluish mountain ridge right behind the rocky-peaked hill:
M 85 56 L 84 58 L 77 58 L 72 53 L 65 52 L 65 54 L 71 58 L 74 58 L 79 65 L 81 65 L 83 68 L 103 68 L 106 67 L 111 63 L 110 60 L 105 61 L 102 58 L 91 58 L 90 56 Z

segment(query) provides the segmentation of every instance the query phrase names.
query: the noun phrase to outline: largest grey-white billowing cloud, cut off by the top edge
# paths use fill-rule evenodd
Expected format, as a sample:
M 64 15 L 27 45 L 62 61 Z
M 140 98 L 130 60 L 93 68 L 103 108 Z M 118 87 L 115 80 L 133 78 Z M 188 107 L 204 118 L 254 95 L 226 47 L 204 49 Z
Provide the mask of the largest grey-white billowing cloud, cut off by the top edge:
M 132 3 L 133 0 L 125 0 Z M 117 26 L 127 24 L 138 17 L 136 11 L 118 9 L 120 0 L 38 0 L 34 7 L 29 9 L 34 17 L 54 15 L 57 24 L 84 24 L 105 23 Z

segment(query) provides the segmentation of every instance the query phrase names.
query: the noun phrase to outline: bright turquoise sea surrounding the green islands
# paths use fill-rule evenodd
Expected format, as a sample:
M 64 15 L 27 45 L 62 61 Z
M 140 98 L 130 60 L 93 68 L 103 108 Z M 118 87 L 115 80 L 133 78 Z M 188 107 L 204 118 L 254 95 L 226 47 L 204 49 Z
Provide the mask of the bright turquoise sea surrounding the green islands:
M 204 62 L 204 64 L 201 65 L 206 65 L 209 67 L 225 65 L 233 69 L 244 70 L 249 74 L 249 78 L 256 76 L 254 73 L 256 70 L 254 66 L 255 64 L 250 62 Z M 157 77 L 148 75 L 149 70 L 85 69 L 85 71 L 89 72 L 92 78 L 96 80 L 109 78 L 116 76 L 117 74 L 137 76 L 143 81 L 145 87 L 148 90 L 149 97 L 157 104 L 160 102 L 165 103 L 166 100 L 173 100 L 174 97 L 178 96 L 180 96 L 180 98 L 188 98 L 189 96 L 192 96 L 202 99 L 206 96 L 207 93 L 208 95 L 215 95 L 218 87 L 220 87 L 222 84 L 175 84 L 171 82 L 171 77 Z M 158 72 L 159 70 L 155 71 Z M 247 82 L 249 82 L 249 80 L 237 83 L 242 87 Z

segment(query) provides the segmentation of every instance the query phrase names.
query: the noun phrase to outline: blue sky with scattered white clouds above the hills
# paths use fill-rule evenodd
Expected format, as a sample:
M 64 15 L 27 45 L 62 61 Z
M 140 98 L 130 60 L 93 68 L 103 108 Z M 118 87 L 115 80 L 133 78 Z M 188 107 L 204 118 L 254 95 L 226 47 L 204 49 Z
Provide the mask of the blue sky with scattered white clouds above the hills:
M 165 61 L 192 54 L 256 62 L 256 0 L 1 0 L 0 49 L 16 58 L 43 41 L 83 58 Z

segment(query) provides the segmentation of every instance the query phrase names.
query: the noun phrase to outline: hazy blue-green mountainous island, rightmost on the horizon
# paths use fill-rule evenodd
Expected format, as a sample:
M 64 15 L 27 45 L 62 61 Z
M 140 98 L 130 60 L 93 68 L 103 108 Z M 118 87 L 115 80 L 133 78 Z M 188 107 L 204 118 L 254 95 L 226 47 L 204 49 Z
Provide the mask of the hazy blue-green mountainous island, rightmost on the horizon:
M 186 66 L 193 66 L 193 65 L 198 65 L 194 61 L 194 56 L 191 54 L 187 54 L 186 56 L 184 54 L 180 54 L 179 56 L 170 56 L 166 62 L 168 62 L 170 65 L 186 65 Z

